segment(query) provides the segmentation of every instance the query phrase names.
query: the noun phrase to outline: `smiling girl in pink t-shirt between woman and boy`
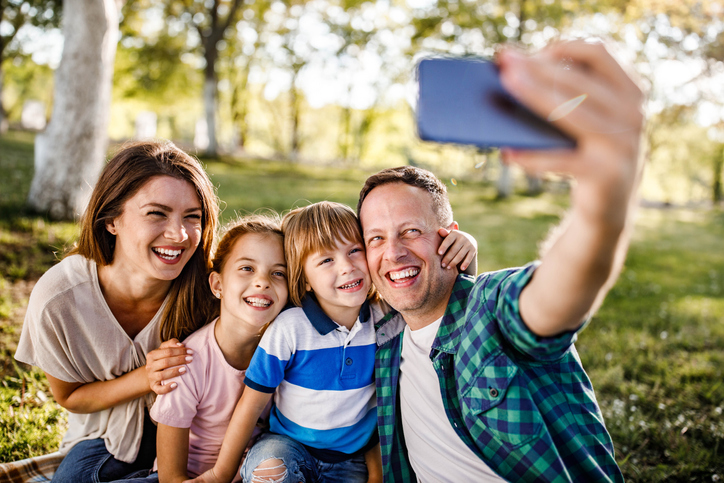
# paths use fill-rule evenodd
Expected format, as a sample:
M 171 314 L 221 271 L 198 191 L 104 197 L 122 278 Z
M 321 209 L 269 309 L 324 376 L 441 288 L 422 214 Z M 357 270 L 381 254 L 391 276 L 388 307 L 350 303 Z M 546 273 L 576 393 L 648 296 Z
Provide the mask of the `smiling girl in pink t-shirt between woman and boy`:
M 219 316 L 184 341 L 194 362 L 151 409 L 158 422 L 158 473 L 125 483 L 182 482 L 216 462 L 251 356 L 287 302 L 279 217 L 251 215 L 228 225 L 209 285 L 220 302 Z

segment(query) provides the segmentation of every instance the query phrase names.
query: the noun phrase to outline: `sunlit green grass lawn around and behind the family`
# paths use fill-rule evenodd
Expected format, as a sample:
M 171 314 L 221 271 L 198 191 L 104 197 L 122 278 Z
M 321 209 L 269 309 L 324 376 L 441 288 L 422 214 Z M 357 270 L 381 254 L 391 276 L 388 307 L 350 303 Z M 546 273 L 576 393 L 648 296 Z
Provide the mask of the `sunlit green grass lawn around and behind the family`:
M 53 451 L 63 410 L 42 373 L 13 362 L 27 297 L 77 236 L 23 208 L 32 136 L 0 139 L 0 462 Z M 254 160 L 207 163 L 222 221 L 331 199 L 356 205 L 369 173 Z M 494 187 L 449 184 L 455 218 L 479 244 L 479 270 L 523 264 L 560 220 L 564 195 L 496 201 Z M 576 343 L 630 482 L 724 481 L 724 213 L 642 208 L 626 266 Z M 57 254 L 57 255 L 56 255 Z

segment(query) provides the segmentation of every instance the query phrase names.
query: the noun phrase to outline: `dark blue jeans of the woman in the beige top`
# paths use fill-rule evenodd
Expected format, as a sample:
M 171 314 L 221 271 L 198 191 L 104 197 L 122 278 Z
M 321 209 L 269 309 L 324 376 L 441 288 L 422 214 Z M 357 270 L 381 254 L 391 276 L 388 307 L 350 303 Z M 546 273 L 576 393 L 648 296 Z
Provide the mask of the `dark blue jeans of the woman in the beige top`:
M 113 457 L 102 439 L 81 441 L 65 455 L 53 476 L 53 483 L 100 483 L 139 476 L 153 468 L 156 460 L 156 425 L 146 412 L 138 457 L 124 463 Z

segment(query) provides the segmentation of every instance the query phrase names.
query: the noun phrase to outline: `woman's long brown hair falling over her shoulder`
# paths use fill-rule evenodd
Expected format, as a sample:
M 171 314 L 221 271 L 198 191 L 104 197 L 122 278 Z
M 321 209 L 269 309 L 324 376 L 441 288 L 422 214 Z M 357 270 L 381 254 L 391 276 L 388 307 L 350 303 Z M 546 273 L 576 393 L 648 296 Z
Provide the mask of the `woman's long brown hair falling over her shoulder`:
M 219 201 L 198 160 L 168 141 L 124 145 L 103 169 L 81 218 L 78 243 L 69 254 L 82 255 L 99 266 L 113 263 L 116 237 L 106 230 L 106 223 L 120 216 L 126 201 L 155 176 L 189 182 L 201 203 L 199 246 L 171 283 L 161 321 L 162 340 L 183 340 L 209 320 L 213 309 L 207 271 Z

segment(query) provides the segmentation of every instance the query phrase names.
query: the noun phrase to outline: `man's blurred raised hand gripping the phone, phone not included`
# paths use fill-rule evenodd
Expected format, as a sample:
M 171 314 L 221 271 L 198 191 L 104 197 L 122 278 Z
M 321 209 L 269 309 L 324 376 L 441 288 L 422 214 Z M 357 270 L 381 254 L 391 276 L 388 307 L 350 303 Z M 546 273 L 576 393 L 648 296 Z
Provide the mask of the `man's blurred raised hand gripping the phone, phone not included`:
M 505 88 L 537 115 L 555 115 L 553 124 L 577 143 L 571 150 L 505 149 L 503 159 L 527 172 L 573 176 L 573 205 L 592 216 L 626 216 L 621 205 L 641 174 L 644 96 L 605 46 L 559 42 L 530 56 L 505 49 L 498 64 Z

